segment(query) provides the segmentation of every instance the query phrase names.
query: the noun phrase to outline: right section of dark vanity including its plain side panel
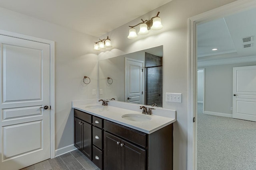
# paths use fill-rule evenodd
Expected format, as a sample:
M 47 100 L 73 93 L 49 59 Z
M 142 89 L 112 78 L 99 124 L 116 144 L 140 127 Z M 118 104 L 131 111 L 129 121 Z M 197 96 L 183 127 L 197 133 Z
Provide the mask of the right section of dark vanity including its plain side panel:
M 172 124 L 150 134 L 104 120 L 104 170 L 172 170 Z

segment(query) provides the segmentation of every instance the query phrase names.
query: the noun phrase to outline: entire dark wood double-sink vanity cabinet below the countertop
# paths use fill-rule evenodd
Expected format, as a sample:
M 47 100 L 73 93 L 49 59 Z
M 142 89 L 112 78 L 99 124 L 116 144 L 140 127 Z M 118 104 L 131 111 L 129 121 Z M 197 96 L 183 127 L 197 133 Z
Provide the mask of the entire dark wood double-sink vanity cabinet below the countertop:
M 74 109 L 74 145 L 101 170 L 172 170 L 172 131 L 146 134 Z

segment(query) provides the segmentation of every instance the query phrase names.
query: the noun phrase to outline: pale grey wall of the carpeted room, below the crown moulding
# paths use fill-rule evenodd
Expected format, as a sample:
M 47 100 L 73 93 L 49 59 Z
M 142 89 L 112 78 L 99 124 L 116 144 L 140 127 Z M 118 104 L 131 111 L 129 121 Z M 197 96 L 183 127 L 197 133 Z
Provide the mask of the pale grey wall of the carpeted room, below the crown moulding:
M 233 67 L 253 66 L 256 62 L 204 66 L 204 111 L 232 114 Z

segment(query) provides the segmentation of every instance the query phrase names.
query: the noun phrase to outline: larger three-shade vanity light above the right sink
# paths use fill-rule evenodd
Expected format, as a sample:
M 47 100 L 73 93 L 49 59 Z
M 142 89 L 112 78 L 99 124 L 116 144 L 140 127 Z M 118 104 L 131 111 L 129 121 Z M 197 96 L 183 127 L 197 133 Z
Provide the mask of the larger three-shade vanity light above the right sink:
M 141 23 L 138 23 L 137 25 L 134 26 L 129 26 L 131 27 L 129 30 L 129 35 L 128 39 L 135 39 L 138 37 L 136 33 L 136 29 L 134 27 L 140 25 L 140 31 L 138 32 L 139 35 L 147 35 L 149 33 L 149 29 L 152 30 L 160 30 L 163 28 L 163 25 L 161 23 L 161 18 L 158 16 L 160 12 L 156 14 L 156 16 L 152 17 L 151 20 L 142 20 Z

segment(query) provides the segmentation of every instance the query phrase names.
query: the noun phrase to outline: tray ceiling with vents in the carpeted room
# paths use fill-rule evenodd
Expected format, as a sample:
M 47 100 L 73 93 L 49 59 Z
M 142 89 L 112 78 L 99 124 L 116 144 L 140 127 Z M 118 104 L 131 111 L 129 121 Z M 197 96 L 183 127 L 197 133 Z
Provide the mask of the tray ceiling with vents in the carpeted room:
M 198 62 L 256 56 L 255 16 L 256 9 L 252 9 L 198 25 Z M 242 41 L 250 36 L 252 41 Z M 244 48 L 247 44 L 252 47 Z

